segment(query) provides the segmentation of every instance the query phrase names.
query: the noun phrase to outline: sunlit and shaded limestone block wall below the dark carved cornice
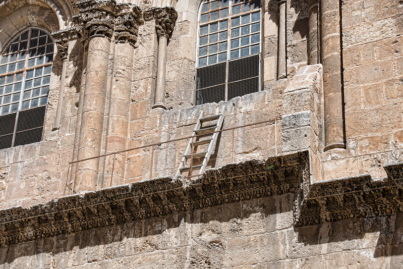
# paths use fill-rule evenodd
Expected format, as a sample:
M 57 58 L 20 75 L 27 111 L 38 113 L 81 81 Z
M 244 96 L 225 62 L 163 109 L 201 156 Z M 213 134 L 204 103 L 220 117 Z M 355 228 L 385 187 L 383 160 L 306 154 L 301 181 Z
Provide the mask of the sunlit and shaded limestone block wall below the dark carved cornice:
M 403 216 L 293 228 L 293 194 L 0 248 L 0 268 L 400 268 Z

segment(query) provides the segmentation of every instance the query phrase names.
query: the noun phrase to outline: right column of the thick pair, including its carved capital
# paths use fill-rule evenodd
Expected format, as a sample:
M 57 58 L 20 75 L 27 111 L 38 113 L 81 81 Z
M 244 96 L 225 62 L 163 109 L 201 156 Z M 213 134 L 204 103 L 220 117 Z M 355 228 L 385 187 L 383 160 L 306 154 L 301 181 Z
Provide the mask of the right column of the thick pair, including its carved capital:
M 114 35 L 116 40 L 112 85 L 110 89 L 109 126 L 106 137 L 106 153 L 127 148 L 130 94 L 134 47 L 142 14 L 140 8 L 125 4 L 126 9 L 117 15 Z M 122 8 L 122 7 L 121 7 Z M 114 163 L 114 165 L 113 165 Z M 106 158 L 104 187 L 125 183 L 126 152 Z M 112 174 L 113 177 L 110 175 Z

